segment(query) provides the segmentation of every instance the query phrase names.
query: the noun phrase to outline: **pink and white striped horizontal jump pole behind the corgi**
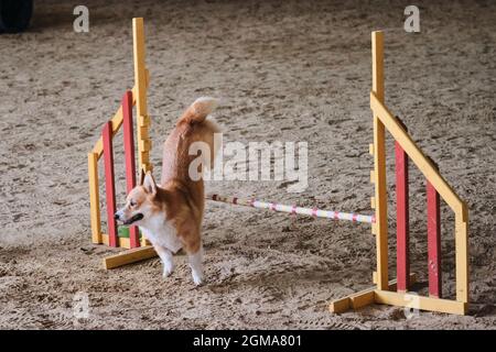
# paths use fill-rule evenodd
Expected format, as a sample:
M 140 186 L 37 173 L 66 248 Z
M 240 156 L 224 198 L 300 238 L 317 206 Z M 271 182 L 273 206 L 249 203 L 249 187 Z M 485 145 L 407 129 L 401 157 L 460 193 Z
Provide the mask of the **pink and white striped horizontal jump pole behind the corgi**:
M 316 208 L 302 208 L 296 206 L 284 206 L 276 202 L 266 202 L 256 199 L 241 199 L 236 197 L 225 197 L 220 195 L 207 195 L 206 199 L 220 201 L 226 204 L 231 204 L 236 206 L 245 206 L 258 209 L 269 209 L 273 211 L 280 212 L 289 212 L 289 213 L 299 213 L 304 216 L 311 216 L 316 218 L 327 218 L 334 220 L 348 220 L 353 222 L 366 222 L 366 223 L 375 223 L 376 219 L 374 216 L 363 216 L 353 212 L 341 212 L 333 210 L 321 210 Z

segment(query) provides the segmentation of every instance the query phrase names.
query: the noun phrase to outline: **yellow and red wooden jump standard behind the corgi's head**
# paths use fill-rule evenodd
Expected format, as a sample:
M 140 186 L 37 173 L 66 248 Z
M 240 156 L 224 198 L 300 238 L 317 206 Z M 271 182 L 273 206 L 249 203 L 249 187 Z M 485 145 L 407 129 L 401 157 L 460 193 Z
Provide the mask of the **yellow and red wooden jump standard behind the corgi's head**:
M 116 212 L 116 190 L 114 175 L 114 146 L 112 139 L 123 127 L 125 155 L 126 155 L 126 189 L 129 191 L 136 186 L 134 165 L 134 135 L 132 122 L 132 107 L 137 108 L 137 145 L 139 168 L 142 170 L 152 169 L 149 161 L 151 141 L 148 129 L 150 118 L 147 110 L 147 88 L 149 85 L 149 72 L 144 66 L 144 28 L 143 19 L 132 20 L 133 34 L 133 56 L 134 56 L 134 86 L 130 91 L 126 91 L 122 103 L 114 118 L 108 121 L 103 129 L 101 136 L 88 153 L 88 180 L 89 180 L 89 204 L 91 217 L 91 241 L 93 243 L 107 244 L 114 248 L 136 249 L 141 245 L 140 256 L 150 257 L 154 253 L 147 240 L 140 242 L 139 230 L 132 227 L 128 238 L 119 238 L 117 223 L 114 220 Z M 98 186 L 98 161 L 104 156 L 105 164 L 105 189 L 107 204 L 107 232 L 101 231 L 100 202 Z M 132 257 L 132 252 L 128 253 Z M 106 262 L 106 260 L 105 260 Z

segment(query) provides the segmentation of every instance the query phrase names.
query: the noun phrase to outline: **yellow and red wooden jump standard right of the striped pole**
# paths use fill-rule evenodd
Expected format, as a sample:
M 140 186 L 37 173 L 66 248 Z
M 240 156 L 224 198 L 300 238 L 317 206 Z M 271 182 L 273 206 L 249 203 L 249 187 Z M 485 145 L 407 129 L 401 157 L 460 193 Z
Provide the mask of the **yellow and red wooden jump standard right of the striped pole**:
M 370 108 L 374 114 L 374 155 L 371 182 L 375 185 L 376 222 L 371 230 L 376 235 L 377 271 L 374 273 L 374 288 L 334 300 L 330 310 L 342 312 L 349 308 L 377 302 L 403 306 L 421 310 L 432 310 L 464 315 L 468 310 L 468 211 L 464 201 L 453 191 L 438 172 L 438 167 L 412 141 L 402 123 L 392 116 L 384 102 L 384 37 L 382 32 L 373 32 L 373 91 Z M 386 130 L 396 141 L 396 183 L 397 183 L 397 279 L 388 275 L 388 218 L 386 189 Z M 409 273 L 408 255 L 408 158 L 427 178 L 428 198 L 428 267 L 429 297 L 408 293 L 412 275 Z M 456 299 L 442 299 L 441 255 L 440 255 L 440 196 L 455 213 L 456 251 Z M 414 276 L 413 276 L 414 278 Z

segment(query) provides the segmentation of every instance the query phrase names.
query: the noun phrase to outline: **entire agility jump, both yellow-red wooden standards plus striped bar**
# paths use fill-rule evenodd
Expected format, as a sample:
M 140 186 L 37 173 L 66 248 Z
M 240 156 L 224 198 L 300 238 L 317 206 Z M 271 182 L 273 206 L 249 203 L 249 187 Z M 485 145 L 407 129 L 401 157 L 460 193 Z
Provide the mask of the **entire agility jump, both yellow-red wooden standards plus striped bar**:
M 93 151 L 88 154 L 89 196 L 91 216 L 91 239 L 94 243 L 128 249 L 116 255 L 104 258 L 106 268 L 139 262 L 157 255 L 152 246 L 143 238 L 140 241 L 139 230 L 130 229 L 129 239 L 119 238 L 117 224 L 114 220 L 116 211 L 112 138 L 123 125 L 127 190 L 136 185 L 134 141 L 132 129 L 132 107 L 137 107 L 137 145 L 139 169 L 150 170 L 149 161 L 151 141 L 149 140 L 150 118 L 147 110 L 147 88 L 149 73 L 144 66 L 144 29 L 142 19 L 133 19 L 133 56 L 134 56 L 134 87 L 127 91 L 122 105 L 108 121 Z M 375 196 L 371 197 L 371 208 L 375 215 L 363 216 L 338 211 L 320 210 L 316 208 L 301 208 L 255 199 L 239 199 L 219 195 L 209 195 L 206 199 L 228 202 L 272 211 L 333 220 L 349 220 L 371 224 L 376 235 L 377 271 L 373 280 L 376 287 L 334 300 L 330 310 L 343 312 L 349 308 L 360 308 L 374 302 L 403 306 L 422 310 L 432 310 L 464 315 L 468 309 L 468 212 L 466 205 L 456 196 L 439 174 L 436 165 L 427 157 L 407 132 L 401 121 L 393 117 L 384 103 L 384 41 L 382 32 L 373 32 L 373 91 L 370 92 L 370 108 L 374 114 L 374 143 L 369 152 L 374 156 L 374 170 L 370 179 L 375 185 Z M 396 196 L 397 196 L 397 278 L 389 280 L 388 275 L 388 223 L 387 223 L 387 190 L 386 190 L 386 130 L 393 136 L 396 158 Z M 106 197 L 107 197 L 107 229 L 108 234 L 101 232 L 99 193 L 98 193 L 98 160 L 104 155 Z M 408 196 L 408 164 L 409 158 L 417 165 L 427 178 L 428 204 L 428 273 L 429 297 L 408 293 L 417 279 L 409 268 L 409 196 Z M 440 196 L 455 212 L 455 249 L 456 249 L 456 299 L 442 299 L 441 287 L 441 238 L 440 238 Z

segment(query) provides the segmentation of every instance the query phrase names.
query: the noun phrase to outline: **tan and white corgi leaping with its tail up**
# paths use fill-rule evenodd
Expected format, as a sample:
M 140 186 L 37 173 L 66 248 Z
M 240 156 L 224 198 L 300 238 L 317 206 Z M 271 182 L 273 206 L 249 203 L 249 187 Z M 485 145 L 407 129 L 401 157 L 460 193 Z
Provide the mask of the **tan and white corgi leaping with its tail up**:
M 188 173 L 190 164 L 197 157 L 190 155 L 190 146 L 194 142 L 207 143 L 211 155 L 205 161 L 209 163 L 203 165 L 213 167 L 214 133 L 219 128 L 207 116 L 216 107 L 216 99 L 202 97 L 186 109 L 163 145 L 160 184 L 150 172 L 142 175 L 140 185 L 127 196 L 126 206 L 115 215 L 125 226 L 140 227 L 163 263 L 163 277 L 174 271 L 172 254 L 184 249 L 196 286 L 204 282 L 201 228 L 205 187 L 202 177 L 192 178 Z

